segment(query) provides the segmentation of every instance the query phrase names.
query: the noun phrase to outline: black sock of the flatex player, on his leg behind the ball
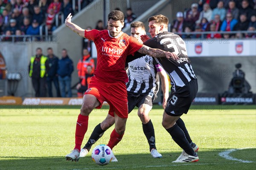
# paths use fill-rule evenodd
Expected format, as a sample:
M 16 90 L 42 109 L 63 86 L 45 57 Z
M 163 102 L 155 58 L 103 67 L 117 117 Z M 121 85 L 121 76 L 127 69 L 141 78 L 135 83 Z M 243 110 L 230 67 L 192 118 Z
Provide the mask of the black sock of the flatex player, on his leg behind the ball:
M 100 127 L 100 124 L 97 125 L 94 130 L 93 133 L 91 134 L 90 138 L 88 139 L 87 143 L 84 145 L 83 149 L 87 149 L 90 150 L 90 148 L 92 147 L 92 145 L 94 143 L 96 143 L 99 138 L 102 137 L 102 135 L 104 134 L 106 130 L 102 130 L 102 128 Z

